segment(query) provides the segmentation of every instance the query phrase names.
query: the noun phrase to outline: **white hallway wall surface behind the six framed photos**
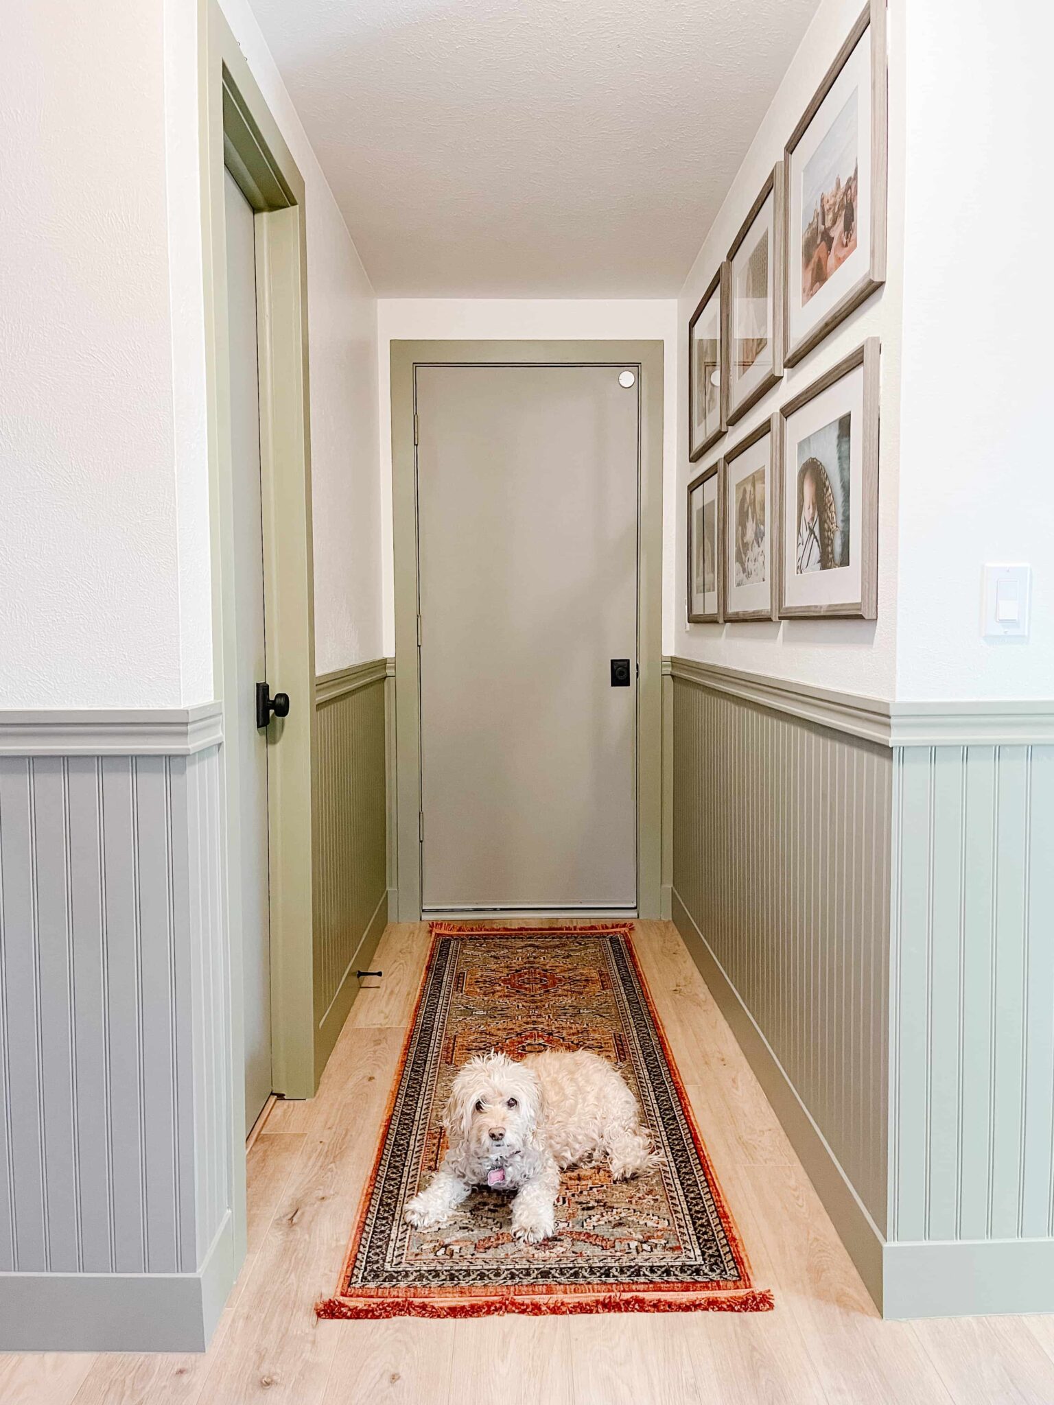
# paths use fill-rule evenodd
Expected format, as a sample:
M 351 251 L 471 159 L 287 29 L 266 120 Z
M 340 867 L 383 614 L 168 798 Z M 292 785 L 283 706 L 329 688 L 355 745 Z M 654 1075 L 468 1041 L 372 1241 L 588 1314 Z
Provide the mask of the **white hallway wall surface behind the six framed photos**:
M 860 14 L 861 0 L 824 0 L 736 174 L 721 212 L 679 298 L 677 334 L 687 364 L 687 322 L 735 237 L 807 103 Z M 687 372 L 677 377 L 677 497 L 675 582 L 666 599 L 673 653 L 832 688 L 892 697 L 897 672 L 897 490 L 904 221 L 904 0 L 890 4 L 890 253 L 887 281 L 826 341 L 784 374 L 698 462 L 687 457 Z M 767 419 L 780 403 L 859 347 L 867 336 L 883 346 L 878 525 L 878 618 L 787 620 L 781 624 L 686 624 L 684 492 L 697 472 Z

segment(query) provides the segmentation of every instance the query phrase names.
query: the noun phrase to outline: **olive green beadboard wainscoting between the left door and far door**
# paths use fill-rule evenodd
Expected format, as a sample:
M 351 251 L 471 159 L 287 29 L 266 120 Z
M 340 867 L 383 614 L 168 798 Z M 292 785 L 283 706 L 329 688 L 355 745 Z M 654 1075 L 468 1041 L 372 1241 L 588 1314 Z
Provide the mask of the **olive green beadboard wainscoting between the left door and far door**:
M 315 1066 L 320 1076 L 388 922 L 389 660 L 315 681 Z

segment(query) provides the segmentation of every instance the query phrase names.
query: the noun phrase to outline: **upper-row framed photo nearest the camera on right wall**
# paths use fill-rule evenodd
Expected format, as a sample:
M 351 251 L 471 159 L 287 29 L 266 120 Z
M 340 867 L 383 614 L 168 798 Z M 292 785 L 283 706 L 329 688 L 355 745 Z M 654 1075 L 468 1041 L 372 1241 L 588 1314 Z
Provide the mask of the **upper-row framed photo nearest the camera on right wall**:
M 857 56 L 857 48 L 861 44 L 867 45 L 868 53 L 864 55 L 864 51 L 860 51 Z M 863 62 L 864 58 L 868 58 L 866 65 Z M 814 256 L 805 254 L 805 232 L 807 228 L 811 229 L 811 223 L 809 226 L 802 226 L 802 211 L 798 211 L 795 218 L 795 195 L 798 191 L 802 191 L 802 166 L 805 167 L 804 173 L 808 174 L 812 164 L 811 162 L 804 163 L 802 156 L 805 149 L 814 145 L 814 156 L 815 159 L 821 159 L 824 142 L 821 140 L 819 145 L 815 145 L 814 122 L 826 122 L 825 136 L 829 138 L 832 145 L 836 145 L 836 139 L 840 139 L 843 135 L 843 119 L 849 111 L 849 104 L 846 103 L 845 107 L 838 105 L 845 94 L 843 91 L 836 91 L 836 84 L 839 84 L 839 80 L 843 80 L 842 87 L 845 87 L 852 79 L 853 63 L 859 67 L 859 83 L 852 90 L 852 103 L 854 104 L 852 114 L 853 139 L 859 135 L 857 118 L 861 89 L 866 94 L 867 108 L 867 140 L 859 143 L 857 171 L 854 174 L 859 174 L 860 156 L 863 156 L 867 178 L 863 183 L 863 194 L 861 185 L 857 181 L 852 202 L 849 201 L 849 181 L 845 183 L 840 191 L 821 192 L 818 233 L 828 236 L 831 246 L 826 247 L 826 256 L 824 256 L 821 244 L 826 244 L 826 240 L 821 237 L 815 250 L 819 261 L 814 263 Z M 808 351 L 819 346 L 854 308 L 859 308 L 885 281 L 887 148 L 885 0 L 868 0 L 867 7 L 853 25 L 784 148 L 786 278 L 783 362 L 786 367 L 797 365 Z M 864 195 L 867 200 L 867 218 L 857 219 L 856 212 Z M 801 198 L 804 201 L 804 191 Z M 822 211 L 825 200 L 832 201 L 836 207 L 839 198 L 843 204 L 842 212 L 838 216 L 838 233 L 835 233 L 833 229 L 826 228 Z M 843 253 L 847 244 L 847 219 L 852 221 L 853 250 L 847 256 L 843 256 L 832 273 L 828 273 L 829 259 L 836 251 Z M 866 246 L 863 247 L 860 246 L 861 230 L 866 230 Z M 852 268 L 850 264 L 853 261 L 859 261 L 860 267 Z M 842 268 L 845 268 L 843 274 Z M 842 274 L 840 278 L 838 277 L 839 274 Z M 836 278 L 838 282 L 835 282 Z M 816 301 L 814 313 L 807 315 L 805 306 L 808 301 L 812 301 L 814 292 L 816 292 L 816 280 L 822 280 L 822 285 L 818 289 L 822 296 Z M 831 288 L 826 287 L 828 281 L 831 282 Z M 807 289 L 807 282 L 812 291 Z M 797 305 L 795 289 L 804 298 L 800 306 Z

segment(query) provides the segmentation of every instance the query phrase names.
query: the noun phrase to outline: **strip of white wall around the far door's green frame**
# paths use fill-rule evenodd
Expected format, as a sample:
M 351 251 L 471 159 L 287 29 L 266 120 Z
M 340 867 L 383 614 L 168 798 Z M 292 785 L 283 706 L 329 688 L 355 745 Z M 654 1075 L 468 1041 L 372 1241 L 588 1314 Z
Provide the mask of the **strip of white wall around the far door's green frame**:
M 676 471 L 677 305 L 658 299 L 516 299 L 516 298 L 381 298 L 378 326 L 378 405 L 382 482 L 384 646 L 395 652 L 395 577 L 392 558 L 392 405 L 391 343 L 438 340 L 661 340 L 663 384 L 663 594 L 672 566 L 673 475 Z M 668 649 L 663 639 L 663 651 Z

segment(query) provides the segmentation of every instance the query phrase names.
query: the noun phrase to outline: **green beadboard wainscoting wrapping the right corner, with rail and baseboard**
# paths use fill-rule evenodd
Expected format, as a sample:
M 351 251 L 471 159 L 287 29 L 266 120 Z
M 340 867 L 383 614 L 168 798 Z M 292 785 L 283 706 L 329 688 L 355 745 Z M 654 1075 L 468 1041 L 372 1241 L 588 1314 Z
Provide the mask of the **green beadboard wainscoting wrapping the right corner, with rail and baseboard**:
M 868 1290 L 1054 1309 L 1054 705 L 666 672 L 673 917 Z

